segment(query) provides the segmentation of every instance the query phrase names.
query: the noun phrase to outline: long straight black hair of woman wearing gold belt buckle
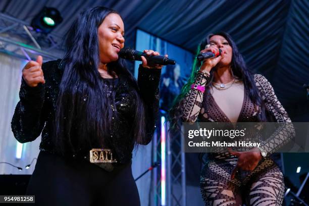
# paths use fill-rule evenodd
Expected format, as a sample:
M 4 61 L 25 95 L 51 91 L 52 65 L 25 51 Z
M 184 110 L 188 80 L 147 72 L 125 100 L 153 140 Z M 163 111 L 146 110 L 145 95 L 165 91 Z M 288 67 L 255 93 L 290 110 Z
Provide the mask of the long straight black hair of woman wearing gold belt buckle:
M 112 144 L 112 118 L 117 122 L 117 113 L 114 112 L 117 109 L 115 102 L 108 99 L 106 86 L 97 69 L 100 61 L 97 29 L 112 13 L 119 15 L 117 11 L 105 7 L 87 9 L 68 31 L 54 134 L 57 151 L 63 154 Z M 130 92 L 136 97 L 136 110 L 128 136 L 133 135 L 135 142 L 142 142 L 145 136 L 144 106 L 136 80 L 124 63 L 121 58 L 109 63 L 108 72 L 111 75 L 115 72 L 134 88 Z M 115 97 L 115 91 L 112 95 Z

